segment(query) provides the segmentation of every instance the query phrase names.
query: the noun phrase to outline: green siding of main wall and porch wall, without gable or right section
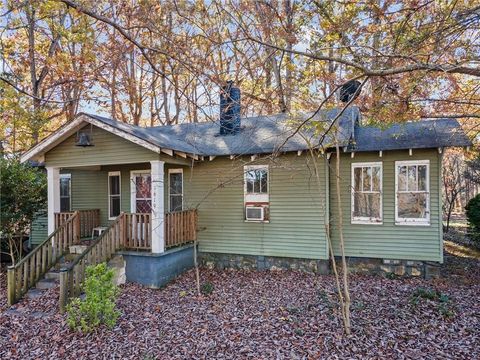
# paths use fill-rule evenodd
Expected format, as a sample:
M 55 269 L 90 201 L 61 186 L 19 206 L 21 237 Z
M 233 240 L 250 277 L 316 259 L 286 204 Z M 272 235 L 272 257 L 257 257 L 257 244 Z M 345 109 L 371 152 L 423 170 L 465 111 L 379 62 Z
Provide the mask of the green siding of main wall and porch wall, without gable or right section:
M 247 223 L 243 212 L 243 162 L 217 158 L 184 171 L 184 207 L 198 206 L 202 251 L 312 259 L 327 258 L 325 240 L 325 173 L 320 184 L 311 159 L 289 155 L 270 164 L 270 223 Z M 168 170 L 165 165 L 165 209 L 168 209 Z M 104 166 L 100 171 L 65 169 L 72 175 L 72 208 L 100 209 L 108 224 L 108 172 L 121 172 L 121 208 L 130 212 L 130 172 L 150 164 Z M 226 182 L 225 186 L 220 186 Z M 319 191 L 319 186 L 323 191 Z

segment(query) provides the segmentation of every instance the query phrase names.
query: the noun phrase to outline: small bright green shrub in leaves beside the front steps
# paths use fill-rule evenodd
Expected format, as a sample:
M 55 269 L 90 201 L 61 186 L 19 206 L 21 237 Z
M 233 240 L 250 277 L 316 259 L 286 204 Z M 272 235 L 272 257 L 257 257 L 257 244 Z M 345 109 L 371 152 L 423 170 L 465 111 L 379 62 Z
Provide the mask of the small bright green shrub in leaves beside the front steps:
M 101 324 L 115 326 L 120 312 L 115 309 L 118 287 L 113 277 L 114 271 L 105 263 L 87 267 L 82 285 L 85 299 L 76 298 L 67 305 L 67 323 L 72 330 L 86 333 Z

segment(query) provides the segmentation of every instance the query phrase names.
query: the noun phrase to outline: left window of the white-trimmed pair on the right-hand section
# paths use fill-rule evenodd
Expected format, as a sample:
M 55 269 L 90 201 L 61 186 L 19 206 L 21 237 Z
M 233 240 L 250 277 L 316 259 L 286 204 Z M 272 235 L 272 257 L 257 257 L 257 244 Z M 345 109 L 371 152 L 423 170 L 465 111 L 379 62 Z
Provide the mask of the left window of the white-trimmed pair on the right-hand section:
M 352 164 L 352 223 L 382 223 L 382 163 Z

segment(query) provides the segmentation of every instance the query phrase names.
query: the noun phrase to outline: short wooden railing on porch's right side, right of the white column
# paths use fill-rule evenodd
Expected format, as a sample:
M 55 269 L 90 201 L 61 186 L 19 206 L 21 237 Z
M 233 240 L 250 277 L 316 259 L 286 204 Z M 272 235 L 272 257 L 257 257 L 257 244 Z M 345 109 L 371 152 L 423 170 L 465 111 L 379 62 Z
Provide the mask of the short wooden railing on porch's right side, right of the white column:
M 197 240 L 197 210 L 165 214 L 165 247 L 183 245 Z

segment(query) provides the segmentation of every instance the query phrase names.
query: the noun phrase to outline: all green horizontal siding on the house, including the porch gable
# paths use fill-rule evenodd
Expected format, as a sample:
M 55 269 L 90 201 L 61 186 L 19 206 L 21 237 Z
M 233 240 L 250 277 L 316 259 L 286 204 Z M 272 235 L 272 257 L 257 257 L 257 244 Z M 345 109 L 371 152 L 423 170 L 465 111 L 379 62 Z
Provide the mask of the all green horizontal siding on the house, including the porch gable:
M 213 161 L 196 162 L 190 168 L 182 166 L 186 163 L 183 159 L 158 155 L 95 127 L 94 147 L 76 147 L 74 141 L 72 136 L 49 151 L 46 165 L 62 167 L 63 173 L 72 174 L 72 210 L 98 208 L 102 225 L 109 222 L 108 172 L 121 172 L 121 209 L 130 212 L 130 172 L 150 169 L 151 160 L 166 160 L 178 164 L 165 165 L 165 209 L 168 210 L 168 169 L 182 167 L 184 207 L 198 208 L 201 251 L 326 259 L 325 224 L 330 221 L 334 250 L 339 254 L 335 176 L 329 176 L 323 158 L 316 160 L 320 183 L 309 156 L 287 154 L 268 162 L 270 222 L 252 223 L 244 221 L 243 190 L 243 165 L 250 158 L 217 157 Z M 415 159 L 430 160 L 431 223 L 395 225 L 394 163 Z M 382 225 L 350 222 L 351 163 L 367 161 L 383 163 Z M 334 162 L 332 156 L 333 169 Z M 441 156 L 436 149 L 414 150 L 413 156 L 408 151 L 387 151 L 382 158 L 378 152 L 356 153 L 353 159 L 350 154 L 342 154 L 340 176 L 347 255 L 442 261 L 440 164 Z M 101 166 L 81 167 L 94 165 Z

